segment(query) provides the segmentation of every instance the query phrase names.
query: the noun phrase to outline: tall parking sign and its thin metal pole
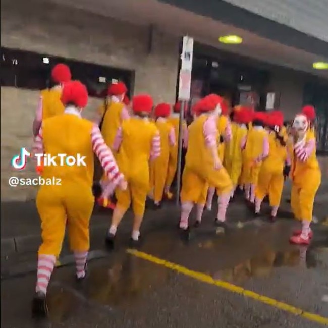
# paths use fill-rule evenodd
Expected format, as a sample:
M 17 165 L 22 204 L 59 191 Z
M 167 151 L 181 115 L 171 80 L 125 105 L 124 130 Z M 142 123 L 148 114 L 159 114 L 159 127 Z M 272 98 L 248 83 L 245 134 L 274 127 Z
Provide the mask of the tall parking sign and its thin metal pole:
M 181 53 L 181 69 L 179 72 L 179 92 L 178 99 L 182 101 L 180 107 L 180 120 L 179 120 L 179 143 L 178 143 L 178 168 L 177 168 L 177 195 L 176 204 L 179 206 L 180 188 L 181 188 L 181 158 L 182 158 L 182 126 L 184 120 L 184 110 L 186 102 L 190 99 L 191 87 L 191 70 L 192 70 L 192 57 L 194 49 L 194 39 L 189 36 L 184 36 L 182 40 L 182 53 Z

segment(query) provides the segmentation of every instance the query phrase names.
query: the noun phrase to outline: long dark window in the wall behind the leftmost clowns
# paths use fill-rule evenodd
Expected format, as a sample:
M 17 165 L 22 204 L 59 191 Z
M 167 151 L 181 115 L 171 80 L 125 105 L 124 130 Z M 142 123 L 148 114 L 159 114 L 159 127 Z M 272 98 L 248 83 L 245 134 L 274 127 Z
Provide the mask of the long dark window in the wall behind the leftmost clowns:
M 30 51 L 1 47 L 1 86 L 42 90 L 49 86 L 51 68 L 67 64 L 74 80 L 80 80 L 92 97 L 103 97 L 112 80 L 123 81 L 132 93 L 134 72 Z

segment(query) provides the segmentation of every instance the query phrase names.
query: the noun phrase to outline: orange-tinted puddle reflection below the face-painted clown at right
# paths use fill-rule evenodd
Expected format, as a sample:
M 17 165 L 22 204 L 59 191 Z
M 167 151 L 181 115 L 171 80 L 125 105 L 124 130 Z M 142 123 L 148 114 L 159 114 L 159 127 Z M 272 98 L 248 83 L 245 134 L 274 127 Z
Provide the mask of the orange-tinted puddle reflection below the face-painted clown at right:
M 216 272 L 213 278 L 242 284 L 251 277 L 268 277 L 275 267 L 282 266 L 328 269 L 328 242 L 313 243 L 309 247 L 289 246 L 284 251 L 266 250 L 232 268 Z

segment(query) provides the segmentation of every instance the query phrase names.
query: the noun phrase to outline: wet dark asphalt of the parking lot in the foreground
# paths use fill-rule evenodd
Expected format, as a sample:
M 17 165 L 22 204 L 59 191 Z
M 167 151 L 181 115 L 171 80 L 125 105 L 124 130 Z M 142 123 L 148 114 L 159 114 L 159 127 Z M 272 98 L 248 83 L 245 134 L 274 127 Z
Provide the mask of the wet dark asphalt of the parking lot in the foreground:
M 288 243 L 293 221 L 261 224 L 216 234 L 210 224 L 189 244 L 173 227 L 149 232 L 140 251 L 202 272 L 328 318 L 328 236 L 316 232 L 311 245 Z M 101 239 L 103 236 L 99 236 Z M 321 327 L 323 324 L 190 277 L 126 252 L 125 240 L 104 258 L 89 262 L 82 284 L 74 265 L 57 269 L 48 291 L 49 319 L 30 315 L 35 275 L 1 284 L 1 327 L 150 328 Z M 156 262 L 156 261 L 155 261 Z M 157 261 L 158 262 L 158 261 Z

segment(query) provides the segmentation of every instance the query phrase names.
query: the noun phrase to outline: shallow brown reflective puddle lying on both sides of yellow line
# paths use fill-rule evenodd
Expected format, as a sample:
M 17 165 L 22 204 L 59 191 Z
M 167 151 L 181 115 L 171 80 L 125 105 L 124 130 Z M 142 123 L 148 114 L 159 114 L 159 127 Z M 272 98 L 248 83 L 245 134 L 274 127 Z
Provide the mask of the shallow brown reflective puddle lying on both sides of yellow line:
M 207 236 L 185 245 L 176 234 L 157 231 L 146 236 L 141 250 L 236 284 L 251 277 L 268 277 L 279 267 L 327 268 L 328 240 L 297 247 L 289 245 L 289 234 L 282 224 L 239 230 L 224 238 Z M 50 319 L 60 322 L 89 307 L 111 315 L 167 286 L 172 275 L 172 271 L 122 249 L 90 262 L 88 276 L 80 287 L 72 281 L 52 287 L 48 293 Z

